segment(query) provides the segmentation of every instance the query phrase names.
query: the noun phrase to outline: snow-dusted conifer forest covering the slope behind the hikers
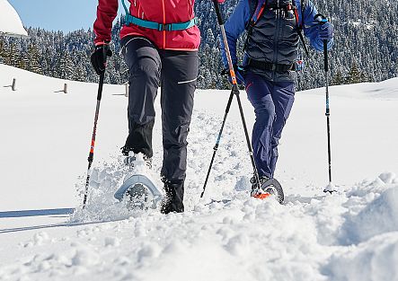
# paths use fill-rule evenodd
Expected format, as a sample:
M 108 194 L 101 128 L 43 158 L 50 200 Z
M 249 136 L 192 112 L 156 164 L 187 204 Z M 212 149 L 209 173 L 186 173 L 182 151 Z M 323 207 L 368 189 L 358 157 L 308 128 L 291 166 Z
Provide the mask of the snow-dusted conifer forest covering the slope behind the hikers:
M 238 0 L 226 1 L 222 12 L 227 18 Z M 317 0 L 318 11 L 325 13 L 335 28 L 335 45 L 330 53 L 333 84 L 377 82 L 398 75 L 398 5 L 390 0 Z M 199 0 L 195 4 L 199 17 L 201 44 L 199 48 L 198 86 L 201 89 L 227 89 L 228 82 L 220 75 L 223 69 L 219 48 L 219 29 L 213 4 Z M 119 31 L 123 19 L 112 29 L 113 56 L 108 61 L 106 83 L 126 83 L 128 69 L 119 55 Z M 93 52 L 93 31 L 44 31 L 27 28 L 29 39 L 0 38 L 0 62 L 41 75 L 82 82 L 97 82 L 90 65 Z M 238 56 L 242 57 L 243 37 L 238 40 Z M 307 44 L 309 46 L 309 44 Z M 301 51 L 305 70 L 298 75 L 297 89 L 323 86 L 323 54 L 314 50 L 310 57 Z

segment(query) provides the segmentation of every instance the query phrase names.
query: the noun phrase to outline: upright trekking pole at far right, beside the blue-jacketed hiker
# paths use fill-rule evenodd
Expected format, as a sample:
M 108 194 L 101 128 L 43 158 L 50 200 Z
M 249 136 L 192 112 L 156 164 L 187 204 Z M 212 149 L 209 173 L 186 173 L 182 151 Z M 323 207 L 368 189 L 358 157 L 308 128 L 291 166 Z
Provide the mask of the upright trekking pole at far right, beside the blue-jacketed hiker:
M 318 13 L 315 15 L 315 21 L 319 22 L 320 24 L 324 24 L 328 22 L 325 16 Z M 326 129 L 328 134 L 328 166 L 329 166 L 329 185 L 323 189 L 323 192 L 330 192 L 336 191 L 333 184 L 332 184 L 332 152 L 331 152 L 331 110 L 329 106 L 329 59 L 328 59 L 328 40 L 323 40 L 323 68 L 324 68 L 324 76 L 325 76 L 325 83 L 326 83 Z

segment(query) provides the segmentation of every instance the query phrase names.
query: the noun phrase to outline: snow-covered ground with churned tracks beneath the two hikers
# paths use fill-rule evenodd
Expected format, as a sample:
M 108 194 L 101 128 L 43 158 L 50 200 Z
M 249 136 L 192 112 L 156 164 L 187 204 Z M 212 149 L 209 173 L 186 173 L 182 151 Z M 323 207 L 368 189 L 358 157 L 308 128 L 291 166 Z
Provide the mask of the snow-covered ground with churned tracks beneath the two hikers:
M 4 87 L 13 77 L 16 92 Z M 117 85 L 104 87 L 80 209 L 97 85 L 67 82 L 64 94 L 63 83 L 0 65 L 0 280 L 398 280 L 398 78 L 331 87 L 332 195 L 324 89 L 296 93 L 276 172 L 285 205 L 249 198 L 235 101 L 199 198 L 229 95 L 199 90 L 178 215 L 128 212 L 112 198 L 127 134 Z M 159 119 L 154 139 L 158 174 Z

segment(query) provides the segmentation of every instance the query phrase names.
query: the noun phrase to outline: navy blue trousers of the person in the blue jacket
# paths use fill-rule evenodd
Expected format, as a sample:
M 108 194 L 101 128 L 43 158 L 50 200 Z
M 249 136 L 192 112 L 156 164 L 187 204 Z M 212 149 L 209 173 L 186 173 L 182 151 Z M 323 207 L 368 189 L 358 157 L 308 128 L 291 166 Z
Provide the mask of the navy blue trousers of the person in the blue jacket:
M 256 120 L 252 129 L 252 149 L 259 176 L 272 178 L 278 161 L 278 145 L 283 127 L 295 101 L 293 82 L 271 82 L 248 72 L 246 92 Z

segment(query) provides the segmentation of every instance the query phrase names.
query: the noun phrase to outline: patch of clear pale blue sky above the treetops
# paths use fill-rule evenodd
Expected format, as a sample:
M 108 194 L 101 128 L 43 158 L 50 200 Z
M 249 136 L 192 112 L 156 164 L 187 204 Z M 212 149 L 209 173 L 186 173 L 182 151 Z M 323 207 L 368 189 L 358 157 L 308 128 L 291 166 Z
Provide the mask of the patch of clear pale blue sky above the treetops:
M 8 0 L 26 27 L 48 31 L 93 29 L 98 0 Z M 122 6 L 119 4 L 119 13 Z

